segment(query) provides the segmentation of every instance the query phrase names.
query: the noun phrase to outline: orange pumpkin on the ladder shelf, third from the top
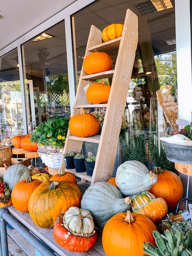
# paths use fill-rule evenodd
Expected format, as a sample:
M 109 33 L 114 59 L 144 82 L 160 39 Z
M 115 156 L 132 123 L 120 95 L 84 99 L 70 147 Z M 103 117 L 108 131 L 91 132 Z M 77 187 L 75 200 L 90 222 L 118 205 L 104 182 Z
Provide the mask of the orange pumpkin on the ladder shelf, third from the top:
M 92 104 L 107 103 L 111 85 L 106 84 L 104 80 L 100 83 L 92 83 L 86 91 L 87 100 Z

